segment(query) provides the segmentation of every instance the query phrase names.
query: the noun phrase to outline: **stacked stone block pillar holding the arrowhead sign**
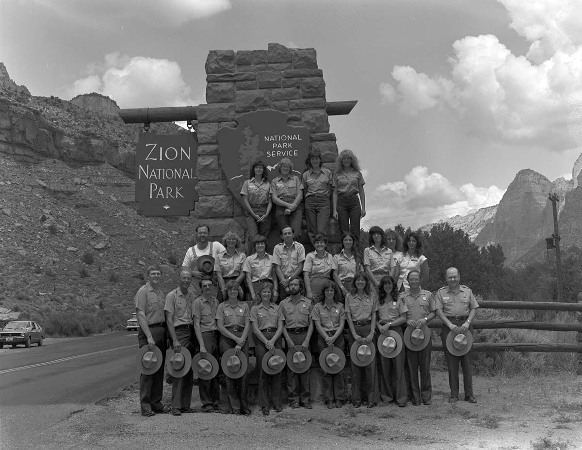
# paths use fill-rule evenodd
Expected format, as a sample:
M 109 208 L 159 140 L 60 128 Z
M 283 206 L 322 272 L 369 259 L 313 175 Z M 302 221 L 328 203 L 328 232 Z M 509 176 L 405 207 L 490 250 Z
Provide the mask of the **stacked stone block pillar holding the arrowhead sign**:
M 219 165 L 218 129 L 236 127 L 237 116 L 258 109 L 286 112 L 293 125 L 308 127 L 311 145 L 321 151 L 322 162 L 331 168 L 338 147 L 335 134 L 329 133 L 323 72 L 317 67 L 314 48 L 281 44 L 269 44 L 267 50 L 212 50 L 205 70 L 207 104 L 198 106 L 195 124 L 200 180 L 196 216 L 232 218 L 237 226 L 230 229 L 243 237 L 244 211 L 229 192 Z M 338 242 L 338 225 L 331 222 L 328 235 Z M 212 230 L 212 235 L 220 234 Z

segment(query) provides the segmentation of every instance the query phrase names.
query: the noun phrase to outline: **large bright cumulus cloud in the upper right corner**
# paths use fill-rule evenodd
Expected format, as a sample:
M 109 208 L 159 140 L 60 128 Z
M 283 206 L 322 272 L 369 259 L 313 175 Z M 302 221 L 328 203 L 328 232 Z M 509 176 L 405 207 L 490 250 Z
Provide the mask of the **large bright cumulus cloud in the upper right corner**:
M 448 76 L 394 66 L 385 103 L 404 114 L 441 108 L 467 133 L 512 146 L 568 151 L 582 144 L 582 0 L 499 0 L 532 41 L 516 56 L 491 34 L 453 43 Z

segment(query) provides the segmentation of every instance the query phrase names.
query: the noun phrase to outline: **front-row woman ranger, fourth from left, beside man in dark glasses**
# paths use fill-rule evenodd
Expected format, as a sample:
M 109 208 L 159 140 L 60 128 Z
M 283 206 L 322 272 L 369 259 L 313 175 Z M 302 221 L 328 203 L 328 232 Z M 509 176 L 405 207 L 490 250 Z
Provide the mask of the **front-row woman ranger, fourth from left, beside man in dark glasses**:
M 236 281 L 230 280 L 226 283 L 226 293 L 228 298 L 225 302 L 218 305 L 217 309 L 217 328 L 220 332 L 220 341 L 218 347 L 221 355 L 228 349 L 235 349 L 235 354 L 242 352 L 249 359 L 249 345 L 247 336 L 250 332 L 250 314 L 249 305 L 242 301 L 242 295 L 239 293 L 239 285 Z M 222 410 L 225 414 L 244 414 L 249 416 L 251 410 L 247 401 L 247 374 L 242 377 L 226 377 L 226 391 L 228 392 L 228 408 Z

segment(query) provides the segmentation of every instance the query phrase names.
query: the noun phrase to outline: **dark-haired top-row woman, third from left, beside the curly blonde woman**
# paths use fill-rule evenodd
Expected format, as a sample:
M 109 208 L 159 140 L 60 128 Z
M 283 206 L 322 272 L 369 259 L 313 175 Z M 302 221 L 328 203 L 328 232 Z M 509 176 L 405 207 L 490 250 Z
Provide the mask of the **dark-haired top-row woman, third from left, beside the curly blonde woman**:
M 333 191 L 332 174 L 321 166 L 321 152 L 310 150 L 306 160 L 306 171 L 301 176 L 305 196 L 305 221 L 311 245 L 315 234 L 327 235 L 329 224 L 329 199 Z

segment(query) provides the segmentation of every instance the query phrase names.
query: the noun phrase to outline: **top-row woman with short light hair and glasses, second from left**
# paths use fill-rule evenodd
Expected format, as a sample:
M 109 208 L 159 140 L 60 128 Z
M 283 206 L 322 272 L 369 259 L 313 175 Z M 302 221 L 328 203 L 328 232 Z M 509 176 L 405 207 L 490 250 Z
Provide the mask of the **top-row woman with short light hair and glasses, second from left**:
M 283 158 L 277 164 L 279 176 L 271 182 L 271 199 L 275 203 L 275 220 L 282 229 L 290 226 L 293 237 L 299 240 L 301 236 L 301 200 L 303 199 L 303 184 L 299 176 L 293 175 L 293 162 Z

